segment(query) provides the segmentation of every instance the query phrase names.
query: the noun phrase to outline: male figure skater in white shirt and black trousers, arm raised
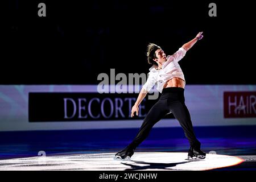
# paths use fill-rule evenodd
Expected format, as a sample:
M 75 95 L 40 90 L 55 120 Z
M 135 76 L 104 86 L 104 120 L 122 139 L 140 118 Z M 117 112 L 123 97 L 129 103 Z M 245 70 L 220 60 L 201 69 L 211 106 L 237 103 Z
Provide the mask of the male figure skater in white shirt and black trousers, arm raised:
M 201 143 L 197 140 L 191 122 L 191 117 L 185 105 L 184 88 L 185 78 L 181 71 L 179 61 L 185 53 L 199 40 L 203 38 L 203 32 L 199 32 L 195 38 L 185 43 L 174 55 L 166 56 L 164 51 L 156 44 L 150 43 L 147 47 L 147 60 L 151 64 L 149 76 L 143 85 L 141 92 L 131 109 L 131 117 L 138 115 L 139 104 L 148 91 L 157 83 L 157 88 L 162 95 L 159 101 L 147 113 L 134 140 L 122 151 L 115 154 L 115 158 L 129 159 L 135 152 L 135 148 L 147 138 L 150 130 L 164 115 L 173 113 L 184 130 L 185 137 L 189 140 L 189 159 L 204 159 L 205 153 L 200 150 Z

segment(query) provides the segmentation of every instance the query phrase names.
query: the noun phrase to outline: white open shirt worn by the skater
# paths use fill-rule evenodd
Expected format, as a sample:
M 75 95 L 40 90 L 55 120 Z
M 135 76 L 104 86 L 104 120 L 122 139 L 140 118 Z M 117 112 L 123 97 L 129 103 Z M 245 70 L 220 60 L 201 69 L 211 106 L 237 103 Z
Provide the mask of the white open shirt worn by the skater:
M 162 93 L 164 84 L 170 80 L 173 77 L 181 78 L 185 81 L 183 72 L 179 65 L 179 60 L 181 60 L 187 51 L 181 47 L 177 52 L 174 53 L 174 55 L 168 55 L 167 61 L 163 63 L 162 69 L 158 70 L 155 69 L 154 66 L 152 66 L 148 73 L 148 78 L 146 83 L 142 86 L 145 90 L 150 91 L 150 89 L 156 84 L 156 89 Z

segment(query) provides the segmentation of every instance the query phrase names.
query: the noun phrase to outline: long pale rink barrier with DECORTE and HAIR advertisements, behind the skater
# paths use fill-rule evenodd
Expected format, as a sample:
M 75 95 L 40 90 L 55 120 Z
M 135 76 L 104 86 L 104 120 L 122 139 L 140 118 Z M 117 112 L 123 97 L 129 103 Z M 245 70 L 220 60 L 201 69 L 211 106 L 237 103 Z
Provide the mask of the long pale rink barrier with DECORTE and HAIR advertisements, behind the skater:
M 137 97 L 97 85 L 1 85 L 0 131 L 137 128 L 158 101 L 145 97 L 131 118 Z M 187 85 L 185 104 L 194 126 L 256 125 L 256 85 Z M 177 126 L 168 114 L 154 127 Z

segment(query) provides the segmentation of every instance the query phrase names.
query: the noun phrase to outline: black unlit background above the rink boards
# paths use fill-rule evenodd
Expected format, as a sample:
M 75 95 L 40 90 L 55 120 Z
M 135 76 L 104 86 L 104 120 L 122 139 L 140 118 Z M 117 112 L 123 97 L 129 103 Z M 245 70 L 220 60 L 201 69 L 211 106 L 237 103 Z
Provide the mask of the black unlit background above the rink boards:
M 46 17 L 38 4 L 46 3 Z M 217 17 L 208 15 L 209 3 Z M 98 84 L 99 73 L 148 73 L 146 46 L 172 54 L 187 84 L 255 84 L 252 1 L 2 2 L 0 84 Z

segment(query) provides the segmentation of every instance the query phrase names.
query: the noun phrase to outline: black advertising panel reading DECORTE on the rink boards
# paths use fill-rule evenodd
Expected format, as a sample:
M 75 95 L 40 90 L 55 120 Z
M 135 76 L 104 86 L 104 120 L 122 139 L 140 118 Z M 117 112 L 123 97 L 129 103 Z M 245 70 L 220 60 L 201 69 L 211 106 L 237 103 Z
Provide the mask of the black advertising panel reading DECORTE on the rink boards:
M 144 100 L 138 116 L 131 117 L 135 93 L 38 93 L 28 94 L 28 121 L 112 121 L 143 119 L 157 100 Z M 49 104 L 50 103 L 50 104 Z M 174 118 L 168 114 L 165 118 Z

